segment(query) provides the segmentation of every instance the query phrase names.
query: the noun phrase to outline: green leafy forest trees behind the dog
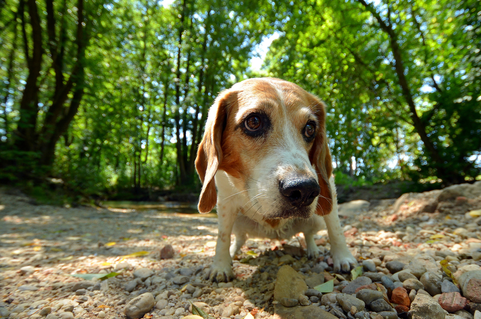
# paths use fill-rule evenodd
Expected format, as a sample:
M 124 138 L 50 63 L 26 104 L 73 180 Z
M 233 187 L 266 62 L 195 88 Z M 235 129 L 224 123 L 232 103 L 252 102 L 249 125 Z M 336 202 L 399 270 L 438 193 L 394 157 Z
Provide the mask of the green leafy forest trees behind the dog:
M 337 179 L 481 179 L 481 1 L 259 2 L 0 0 L 0 179 L 198 189 L 209 106 L 265 76 L 326 102 Z

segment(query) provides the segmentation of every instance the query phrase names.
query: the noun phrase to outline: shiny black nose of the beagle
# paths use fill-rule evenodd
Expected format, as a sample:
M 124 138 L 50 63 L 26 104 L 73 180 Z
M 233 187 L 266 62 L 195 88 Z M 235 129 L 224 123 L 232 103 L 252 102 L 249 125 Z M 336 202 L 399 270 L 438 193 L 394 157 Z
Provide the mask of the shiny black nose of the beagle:
M 314 201 L 321 188 L 313 178 L 287 178 L 279 182 L 279 191 L 295 207 L 305 207 Z

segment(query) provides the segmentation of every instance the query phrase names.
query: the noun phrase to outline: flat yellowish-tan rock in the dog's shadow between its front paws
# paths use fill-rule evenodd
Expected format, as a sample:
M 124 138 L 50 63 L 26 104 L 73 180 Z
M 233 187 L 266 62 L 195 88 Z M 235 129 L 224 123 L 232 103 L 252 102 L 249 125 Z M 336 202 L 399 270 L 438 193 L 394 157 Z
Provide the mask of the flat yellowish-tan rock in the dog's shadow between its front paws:
M 301 275 L 288 265 L 279 268 L 277 272 L 276 286 L 274 287 L 274 300 L 282 298 L 297 299 L 299 294 L 305 294 L 307 285 Z

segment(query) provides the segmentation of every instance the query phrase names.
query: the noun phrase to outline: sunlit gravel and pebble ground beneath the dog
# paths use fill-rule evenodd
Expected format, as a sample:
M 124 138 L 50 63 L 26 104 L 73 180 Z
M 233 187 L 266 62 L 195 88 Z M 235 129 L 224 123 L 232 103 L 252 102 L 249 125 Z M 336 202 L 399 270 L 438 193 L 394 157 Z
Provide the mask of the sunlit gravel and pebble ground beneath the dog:
M 323 254 L 316 260 L 304 256 L 302 234 L 283 242 L 248 240 L 233 262 L 236 279 L 217 284 L 204 280 L 215 254 L 214 214 L 35 205 L 3 190 L 0 318 L 182 319 L 191 315 L 190 302 L 231 319 L 248 313 L 391 319 L 407 318 L 407 311 L 414 319 L 473 318 L 477 305 L 481 310 L 480 208 L 481 182 L 372 201 L 342 218 L 348 246 L 363 265 L 355 281 L 332 272 L 321 230 L 316 243 Z M 160 259 L 170 248 L 173 257 Z M 443 260 L 460 285 L 443 271 Z M 112 271 L 121 274 L 104 281 L 72 276 Z M 331 293 L 311 289 L 330 279 Z

